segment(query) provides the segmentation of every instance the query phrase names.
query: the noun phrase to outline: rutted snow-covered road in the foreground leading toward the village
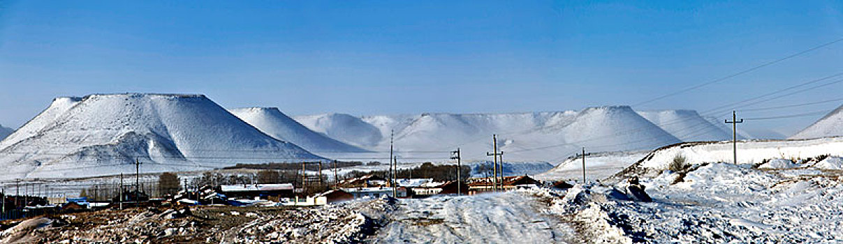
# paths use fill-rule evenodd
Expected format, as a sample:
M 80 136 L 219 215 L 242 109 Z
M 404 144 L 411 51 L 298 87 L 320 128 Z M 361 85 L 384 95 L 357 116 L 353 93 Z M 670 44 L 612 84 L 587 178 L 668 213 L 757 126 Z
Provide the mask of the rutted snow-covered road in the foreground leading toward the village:
M 565 243 L 573 229 L 530 194 L 401 199 L 375 243 Z

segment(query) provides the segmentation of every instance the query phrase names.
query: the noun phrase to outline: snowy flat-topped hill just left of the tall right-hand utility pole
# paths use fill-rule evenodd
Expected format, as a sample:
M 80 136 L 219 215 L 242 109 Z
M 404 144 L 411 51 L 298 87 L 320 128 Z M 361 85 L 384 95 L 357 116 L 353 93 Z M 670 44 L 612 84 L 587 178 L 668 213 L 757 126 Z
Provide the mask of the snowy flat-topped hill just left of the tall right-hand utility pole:
M 681 141 L 723 141 L 732 134 L 717 125 L 711 125 L 694 110 L 637 111 L 653 124 L 658 125 Z

